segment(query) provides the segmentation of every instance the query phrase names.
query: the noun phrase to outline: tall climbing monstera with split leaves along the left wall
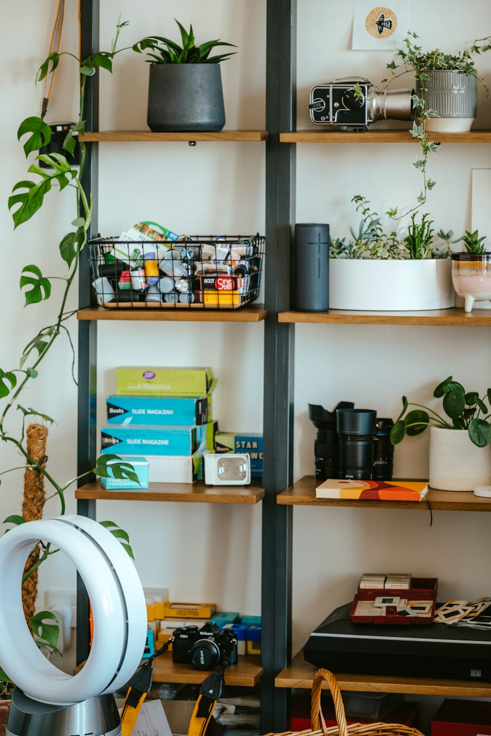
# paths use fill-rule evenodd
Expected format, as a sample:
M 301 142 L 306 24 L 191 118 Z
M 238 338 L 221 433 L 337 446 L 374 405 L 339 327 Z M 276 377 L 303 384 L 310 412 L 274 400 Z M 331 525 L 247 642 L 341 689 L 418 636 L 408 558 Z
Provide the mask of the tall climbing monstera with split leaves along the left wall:
M 14 227 L 18 227 L 23 222 L 31 219 L 32 216 L 42 207 L 44 197 L 53 189 L 58 191 L 75 191 L 74 197 L 74 214 L 76 215 L 71 223 L 73 229 L 66 234 L 60 242 L 60 256 L 66 265 L 66 273 L 58 276 L 65 281 L 65 287 L 60 300 L 60 304 L 55 309 L 55 316 L 48 325 L 41 328 L 39 332 L 29 340 L 24 350 L 22 350 L 18 367 L 0 368 L 0 400 L 4 400 L 3 411 L 0 416 L 0 440 L 8 442 L 15 447 L 15 450 L 24 457 L 26 464 L 11 467 L 7 470 L 1 470 L 0 475 L 12 473 L 16 470 L 25 470 L 26 467 L 42 474 L 45 481 L 52 488 L 52 495 L 57 496 L 60 500 L 60 514 L 65 513 L 66 501 L 65 492 L 71 486 L 83 478 L 88 473 L 83 473 L 72 478 L 68 482 L 56 481 L 52 475 L 46 470 L 41 462 L 36 462 L 29 456 L 25 443 L 24 422 L 27 417 L 38 417 L 43 422 L 52 423 L 51 417 L 42 414 L 35 408 L 24 408 L 21 406 L 21 394 L 26 386 L 38 377 L 38 369 L 44 358 L 51 350 L 54 341 L 62 333 L 67 333 L 66 322 L 73 316 L 73 311 L 66 310 L 66 302 L 68 293 L 71 289 L 74 277 L 77 274 L 80 253 L 87 243 L 88 230 L 92 219 L 92 197 L 88 197 L 82 188 L 81 175 L 85 163 L 85 146 L 82 142 L 77 142 L 77 135 L 85 130 L 85 122 L 83 120 L 84 100 L 85 100 L 85 83 L 87 77 L 96 73 L 97 68 L 104 68 L 112 71 L 112 60 L 116 54 L 116 42 L 118 40 L 121 27 L 126 23 L 119 23 L 116 29 L 116 38 L 113 40 L 113 46 L 110 52 L 97 52 L 91 54 L 85 60 L 74 57 L 74 54 L 64 54 L 74 57 L 77 60 L 77 76 L 80 73 L 80 118 L 71 132 L 68 133 L 63 144 L 63 149 L 73 154 L 76 145 L 80 145 L 80 169 L 72 167 L 66 156 L 60 153 L 40 154 L 39 151 L 43 146 L 47 146 L 51 140 L 51 129 L 41 118 L 29 117 L 21 123 L 18 129 L 18 139 L 24 138 L 24 152 L 26 157 L 30 154 L 38 154 L 35 156 L 37 162 L 43 162 L 49 168 L 41 168 L 38 163 L 32 163 L 27 169 L 32 174 L 32 179 L 26 179 L 18 182 L 13 187 L 13 194 L 9 199 L 9 208 L 13 210 Z M 46 74 L 53 71 L 60 62 L 63 54 L 53 53 L 43 62 L 38 72 L 38 81 L 46 77 Z M 25 305 L 32 308 L 32 305 L 48 300 L 51 296 L 52 279 L 54 277 L 43 276 L 39 266 L 29 264 L 22 269 L 21 289 L 24 289 Z M 68 335 L 69 337 L 69 335 Z M 71 344 L 71 340 L 70 340 Z M 72 348 L 73 350 L 73 348 Z M 10 417 L 13 408 L 17 408 L 22 413 L 21 432 L 18 436 L 7 429 L 7 419 Z M 110 466 L 109 461 L 113 461 Z M 96 467 L 89 473 L 95 473 L 99 476 L 114 475 L 116 478 L 129 478 L 138 482 L 138 476 L 135 474 L 133 467 L 121 461 L 116 455 L 104 455 L 96 461 Z M 49 496 L 48 498 L 52 498 Z M 46 500 L 48 500 L 46 498 Z M 8 517 L 4 523 L 12 523 L 18 525 L 24 523 L 24 518 L 20 515 Z M 102 522 L 104 526 L 119 539 L 121 544 L 133 557 L 133 552 L 129 545 L 127 533 L 119 528 L 114 522 Z M 38 544 L 39 556 L 38 562 L 33 565 L 24 575 L 23 582 L 38 569 L 43 562 L 46 561 L 57 549 L 52 549 L 51 545 Z M 54 614 L 51 612 L 41 611 L 28 620 L 28 625 L 33 634 L 37 637 L 37 643 L 40 648 L 48 648 L 49 651 L 55 651 L 57 646 L 57 638 L 59 627 Z M 1 697 L 8 696 L 10 693 L 10 680 L 6 673 L 0 669 L 0 693 Z

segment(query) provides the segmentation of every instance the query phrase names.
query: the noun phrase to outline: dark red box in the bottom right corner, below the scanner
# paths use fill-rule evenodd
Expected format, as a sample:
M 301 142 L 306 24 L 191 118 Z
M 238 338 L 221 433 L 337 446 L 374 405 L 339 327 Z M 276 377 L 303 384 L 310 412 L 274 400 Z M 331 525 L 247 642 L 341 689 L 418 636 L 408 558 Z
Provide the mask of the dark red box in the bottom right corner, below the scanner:
M 444 700 L 431 721 L 431 736 L 491 736 L 491 703 Z

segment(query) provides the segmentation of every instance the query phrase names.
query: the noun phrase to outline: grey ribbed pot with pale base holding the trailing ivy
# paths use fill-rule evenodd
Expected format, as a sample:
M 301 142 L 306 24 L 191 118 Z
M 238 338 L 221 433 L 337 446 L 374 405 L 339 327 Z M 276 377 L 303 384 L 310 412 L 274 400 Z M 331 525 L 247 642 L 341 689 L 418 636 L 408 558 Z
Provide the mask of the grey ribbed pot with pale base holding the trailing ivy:
M 462 71 L 429 71 L 424 94 L 426 108 L 437 110 L 439 118 L 429 118 L 426 130 L 466 132 L 476 117 L 477 79 Z M 420 85 L 417 84 L 420 94 Z

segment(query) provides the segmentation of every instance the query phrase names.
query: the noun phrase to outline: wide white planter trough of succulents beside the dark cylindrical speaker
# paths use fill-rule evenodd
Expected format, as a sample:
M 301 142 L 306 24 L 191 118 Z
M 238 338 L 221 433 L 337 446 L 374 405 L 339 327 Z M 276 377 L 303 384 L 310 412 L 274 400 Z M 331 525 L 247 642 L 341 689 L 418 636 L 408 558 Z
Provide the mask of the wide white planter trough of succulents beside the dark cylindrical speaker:
M 331 309 L 419 311 L 447 309 L 454 301 L 450 258 L 329 261 Z

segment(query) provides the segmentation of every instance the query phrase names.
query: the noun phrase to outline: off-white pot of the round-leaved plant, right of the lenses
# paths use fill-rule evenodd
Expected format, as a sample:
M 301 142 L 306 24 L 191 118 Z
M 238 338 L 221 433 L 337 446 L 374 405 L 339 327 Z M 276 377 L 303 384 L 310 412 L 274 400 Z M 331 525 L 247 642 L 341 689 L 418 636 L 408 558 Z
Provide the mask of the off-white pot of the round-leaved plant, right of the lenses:
M 430 486 L 473 491 L 491 484 L 491 447 L 477 447 L 466 429 L 430 427 Z

